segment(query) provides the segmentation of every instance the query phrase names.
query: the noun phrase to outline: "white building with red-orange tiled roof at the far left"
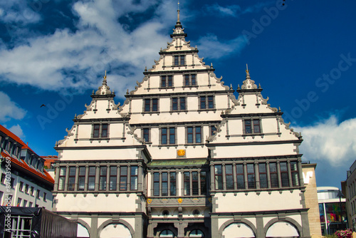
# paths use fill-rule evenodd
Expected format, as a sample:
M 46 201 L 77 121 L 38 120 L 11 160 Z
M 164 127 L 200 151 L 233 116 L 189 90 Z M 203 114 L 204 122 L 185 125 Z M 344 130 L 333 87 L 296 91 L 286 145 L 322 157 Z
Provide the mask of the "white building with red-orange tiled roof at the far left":
M 54 180 L 44 170 L 44 160 L 2 125 L 0 125 L 0 152 L 1 205 L 6 206 L 9 203 L 11 206 L 45 207 L 51 210 Z M 9 160 L 11 167 L 8 167 Z M 10 187 L 6 188 L 8 179 Z M 10 197 L 11 202 L 9 202 Z

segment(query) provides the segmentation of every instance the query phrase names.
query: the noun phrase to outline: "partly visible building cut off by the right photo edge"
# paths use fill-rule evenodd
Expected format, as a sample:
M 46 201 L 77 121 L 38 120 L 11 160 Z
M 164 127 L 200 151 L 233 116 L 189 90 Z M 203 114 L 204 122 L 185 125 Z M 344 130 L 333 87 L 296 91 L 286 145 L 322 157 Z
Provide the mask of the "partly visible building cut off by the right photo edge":
M 342 193 L 346 197 L 347 222 L 356 230 L 356 160 L 347 171 L 347 179 L 341 183 Z

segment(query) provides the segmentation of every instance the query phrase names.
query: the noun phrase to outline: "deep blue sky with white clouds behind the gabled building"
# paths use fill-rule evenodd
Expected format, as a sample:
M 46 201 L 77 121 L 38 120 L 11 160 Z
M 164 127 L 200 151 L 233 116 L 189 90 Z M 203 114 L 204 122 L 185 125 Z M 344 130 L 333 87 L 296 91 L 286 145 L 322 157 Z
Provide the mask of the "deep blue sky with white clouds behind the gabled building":
M 199 57 L 234 89 L 248 63 L 263 97 L 302 133 L 317 185 L 340 187 L 356 159 L 356 1 L 180 2 Z M 1 1 L 0 123 L 38 155 L 56 155 L 105 70 L 122 102 L 176 21 L 170 0 Z

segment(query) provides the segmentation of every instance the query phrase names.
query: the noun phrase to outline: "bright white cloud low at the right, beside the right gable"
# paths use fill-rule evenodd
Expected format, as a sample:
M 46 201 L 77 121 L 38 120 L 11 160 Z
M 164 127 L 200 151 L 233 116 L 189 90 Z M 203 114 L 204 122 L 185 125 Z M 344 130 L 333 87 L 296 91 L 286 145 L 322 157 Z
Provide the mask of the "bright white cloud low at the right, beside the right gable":
M 300 152 L 311 162 L 328 162 L 333 167 L 349 166 L 356 158 L 356 118 L 338 123 L 335 115 L 315 125 L 296 127 L 303 143 Z

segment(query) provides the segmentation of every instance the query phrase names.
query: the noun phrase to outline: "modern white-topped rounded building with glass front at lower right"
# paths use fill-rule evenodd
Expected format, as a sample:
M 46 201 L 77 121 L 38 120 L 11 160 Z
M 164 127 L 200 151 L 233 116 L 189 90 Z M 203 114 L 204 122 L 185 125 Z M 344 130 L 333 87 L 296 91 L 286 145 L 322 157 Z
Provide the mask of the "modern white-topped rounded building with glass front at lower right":
M 345 198 L 337 197 L 340 190 L 337 187 L 317 189 L 322 234 L 334 234 L 339 229 L 347 228 Z

